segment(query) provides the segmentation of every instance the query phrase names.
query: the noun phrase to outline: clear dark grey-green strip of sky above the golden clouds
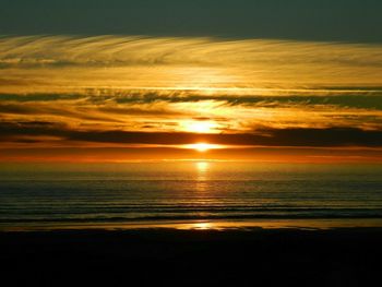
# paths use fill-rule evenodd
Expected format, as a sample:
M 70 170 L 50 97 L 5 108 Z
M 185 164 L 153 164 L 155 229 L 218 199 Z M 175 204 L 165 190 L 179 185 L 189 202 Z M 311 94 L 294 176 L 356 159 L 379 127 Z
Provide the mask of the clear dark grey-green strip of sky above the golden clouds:
M 7 35 L 151 35 L 381 43 L 379 0 L 2 0 Z

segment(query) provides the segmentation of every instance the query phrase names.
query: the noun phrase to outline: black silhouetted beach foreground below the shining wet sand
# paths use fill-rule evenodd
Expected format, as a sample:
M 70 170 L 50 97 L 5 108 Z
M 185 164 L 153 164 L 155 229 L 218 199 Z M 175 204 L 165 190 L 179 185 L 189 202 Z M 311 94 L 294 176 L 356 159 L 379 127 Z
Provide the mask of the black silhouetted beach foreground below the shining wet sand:
M 0 232 L 2 286 L 373 286 L 382 228 Z

